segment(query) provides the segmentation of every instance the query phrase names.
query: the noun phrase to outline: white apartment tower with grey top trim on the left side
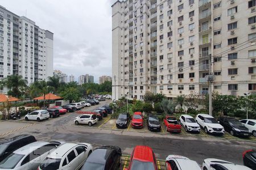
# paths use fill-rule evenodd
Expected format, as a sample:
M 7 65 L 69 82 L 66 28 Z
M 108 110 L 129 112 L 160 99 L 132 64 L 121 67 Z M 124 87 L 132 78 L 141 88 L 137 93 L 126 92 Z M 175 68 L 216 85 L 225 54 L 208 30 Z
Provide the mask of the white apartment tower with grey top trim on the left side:
M 53 33 L 0 6 L 0 79 L 16 74 L 27 83 L 53 73 Z

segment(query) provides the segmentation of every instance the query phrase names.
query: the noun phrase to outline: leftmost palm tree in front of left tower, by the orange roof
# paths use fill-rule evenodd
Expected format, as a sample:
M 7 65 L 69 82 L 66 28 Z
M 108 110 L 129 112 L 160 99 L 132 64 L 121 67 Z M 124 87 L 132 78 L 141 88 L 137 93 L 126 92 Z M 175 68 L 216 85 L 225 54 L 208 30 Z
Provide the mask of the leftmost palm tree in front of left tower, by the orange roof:
M 3 86 L 9 88 L 8 95 L 15 96 L 17 98 L 24 94 L 22 89 L 27 86 L 26 80 L 21 75 L 10 75 L 3 79 Z

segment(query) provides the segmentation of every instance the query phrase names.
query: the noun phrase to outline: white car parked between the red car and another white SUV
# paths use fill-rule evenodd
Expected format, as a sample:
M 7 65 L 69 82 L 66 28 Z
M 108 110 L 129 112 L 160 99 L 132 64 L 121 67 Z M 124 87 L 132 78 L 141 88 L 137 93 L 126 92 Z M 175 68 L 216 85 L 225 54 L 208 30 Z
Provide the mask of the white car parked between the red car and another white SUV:
M 181 114 L 180 124 L 185 128 L 186 131 L 193 131 L 200 133 L 200 126 L 197 124 L 195 119 L 188 114 Z

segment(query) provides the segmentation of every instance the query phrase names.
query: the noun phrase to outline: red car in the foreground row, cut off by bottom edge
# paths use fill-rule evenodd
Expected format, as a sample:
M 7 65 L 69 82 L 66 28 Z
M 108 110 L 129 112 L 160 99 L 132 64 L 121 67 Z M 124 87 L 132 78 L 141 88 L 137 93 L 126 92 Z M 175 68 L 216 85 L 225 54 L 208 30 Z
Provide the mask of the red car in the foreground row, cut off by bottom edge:
M 136 146 L 131 153 L 130 164 L 125 170 L 158 170 L 151 147 Z

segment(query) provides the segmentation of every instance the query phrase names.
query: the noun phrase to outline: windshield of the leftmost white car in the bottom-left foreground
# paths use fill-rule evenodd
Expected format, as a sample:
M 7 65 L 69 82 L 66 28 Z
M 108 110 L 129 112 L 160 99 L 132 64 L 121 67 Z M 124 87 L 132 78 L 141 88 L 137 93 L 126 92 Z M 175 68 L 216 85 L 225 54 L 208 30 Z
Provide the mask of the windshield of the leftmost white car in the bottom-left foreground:
M 25 155 L 11 153 L 0 162 L 1 169 L 13 169 Z

